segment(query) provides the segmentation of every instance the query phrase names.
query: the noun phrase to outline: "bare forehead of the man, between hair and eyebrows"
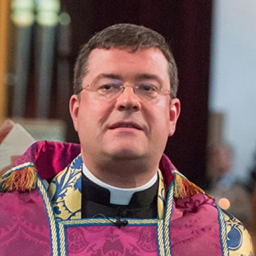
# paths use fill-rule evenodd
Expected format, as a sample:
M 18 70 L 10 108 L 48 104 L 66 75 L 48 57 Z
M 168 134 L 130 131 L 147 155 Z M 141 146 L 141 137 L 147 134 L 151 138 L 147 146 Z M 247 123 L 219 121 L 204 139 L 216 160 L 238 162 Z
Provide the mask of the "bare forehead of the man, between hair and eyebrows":
M 113 73 L 123 77 L 148 73 L 170 81 L 166 57 L 154 47 L 138 49 L 135 52 L 131 52 L 130 48 L 93 49 L 88 58 L 85 79 L 101 73 Z

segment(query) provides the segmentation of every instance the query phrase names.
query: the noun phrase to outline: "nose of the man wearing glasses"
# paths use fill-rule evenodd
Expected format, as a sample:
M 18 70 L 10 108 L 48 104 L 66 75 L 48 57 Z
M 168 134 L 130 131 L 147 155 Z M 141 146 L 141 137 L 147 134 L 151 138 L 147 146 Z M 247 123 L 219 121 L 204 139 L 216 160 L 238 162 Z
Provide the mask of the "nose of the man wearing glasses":
M 141 102 L 135 94 L 133 86 L 125 86 L 123 92 L 117 98 L 116 106 L 119 111 L 133 110 L 135 112 L 141 108 Z

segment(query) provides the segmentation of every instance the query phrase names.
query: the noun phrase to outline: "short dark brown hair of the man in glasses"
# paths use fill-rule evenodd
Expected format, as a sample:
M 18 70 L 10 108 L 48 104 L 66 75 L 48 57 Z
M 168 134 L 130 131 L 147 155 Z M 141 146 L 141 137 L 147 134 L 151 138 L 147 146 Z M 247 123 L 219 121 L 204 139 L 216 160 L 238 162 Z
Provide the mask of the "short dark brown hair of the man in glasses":
M 74 69 L 74 93 L 78 93 L 82 89 L 82 80 L 88 72 L 88 57 L 90 52 L 95 48 L 110 49 L 112 47 L 131 48 L 131 52 L 150 47 L 160 49 L 169 65 L 171 97 L 176 97 L 179 84 L 177 66 L 166 39 L 150 28 L 134 24 L 115 24 L 107 27 L 90 38 L 88 43 L 82 46 Z

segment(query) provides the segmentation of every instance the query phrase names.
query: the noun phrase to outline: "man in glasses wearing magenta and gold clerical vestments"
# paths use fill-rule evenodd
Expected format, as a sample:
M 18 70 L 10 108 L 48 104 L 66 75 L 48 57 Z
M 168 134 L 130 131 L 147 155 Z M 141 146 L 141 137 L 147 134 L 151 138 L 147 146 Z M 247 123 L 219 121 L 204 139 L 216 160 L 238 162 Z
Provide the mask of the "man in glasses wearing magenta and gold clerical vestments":
M 2 191 L 14 191 L 2 208 L 23 209 L 22 232 L 5 224 L 7 245 L 18 244 L 13 232 L 30 250 L 43 244 L 44 255 L 253 255 L 241 222 L 163 155 L 180 114 L 163 36 L 132 24 L 99 32 L 80 51 L 74 91 L 81 154 L 75 144 L 39 142 L 2 178 Z

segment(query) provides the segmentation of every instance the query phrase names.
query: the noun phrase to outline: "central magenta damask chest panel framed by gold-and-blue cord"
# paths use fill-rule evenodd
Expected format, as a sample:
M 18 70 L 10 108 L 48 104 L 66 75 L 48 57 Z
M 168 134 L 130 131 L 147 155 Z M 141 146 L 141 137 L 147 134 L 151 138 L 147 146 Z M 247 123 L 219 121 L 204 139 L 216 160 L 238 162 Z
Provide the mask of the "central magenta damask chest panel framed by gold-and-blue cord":
M 100 227 L 100 228 L 99 228 Z M 132 231 L 130 230 L 132 229 Z M 67 227 L 68 255 L 156 256 L 156 226 Z

